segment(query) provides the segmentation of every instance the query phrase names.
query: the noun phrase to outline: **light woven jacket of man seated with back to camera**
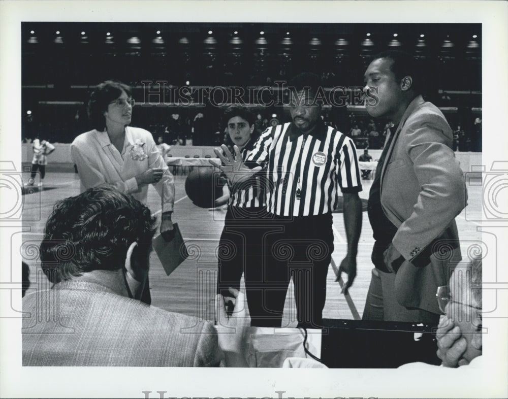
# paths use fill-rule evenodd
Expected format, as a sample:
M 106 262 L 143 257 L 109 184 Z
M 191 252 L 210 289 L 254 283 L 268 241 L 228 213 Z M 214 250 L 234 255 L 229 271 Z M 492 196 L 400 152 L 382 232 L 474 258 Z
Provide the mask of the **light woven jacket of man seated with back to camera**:
M 23 298 L 23 366 L 206 367 L 223 352 L 210 322 L 87 281 Z

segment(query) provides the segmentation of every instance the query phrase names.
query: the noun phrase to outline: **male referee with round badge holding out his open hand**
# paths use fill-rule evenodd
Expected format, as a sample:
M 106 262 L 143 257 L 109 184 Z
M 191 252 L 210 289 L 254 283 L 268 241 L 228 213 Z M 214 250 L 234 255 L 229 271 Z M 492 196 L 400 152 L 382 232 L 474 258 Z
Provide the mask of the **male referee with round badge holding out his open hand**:
M 362 225 L 362 190 L 356 148 L 350 138 L 326 126 L 315 101 L 321 86 L 317 75 L 303 73 L 289 82 L 293 122 L 268 128 L 242 162 L 223 146 L 223 171 L 232 182 L 266 170 L 266 204 L 273 228 L 265 236 L 263 287 L 251 325 L 280 327 L 285 296 L 293 277 L 298 327 L 320 328 L 326 299 L 326 276 L 333 252 L 332 211 L 343 194 L 347 253 L 339 276 L 356 276 L 356 255 Z M 251 168 L 250 162 L 256 167 Z M 250 167 L 250 168 L 249 168 Z

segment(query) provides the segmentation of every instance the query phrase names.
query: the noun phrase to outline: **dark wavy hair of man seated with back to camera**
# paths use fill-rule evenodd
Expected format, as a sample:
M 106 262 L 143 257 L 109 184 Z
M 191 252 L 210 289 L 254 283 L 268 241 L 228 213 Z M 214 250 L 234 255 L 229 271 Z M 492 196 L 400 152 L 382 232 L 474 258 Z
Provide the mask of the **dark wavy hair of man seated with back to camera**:
M 136 255 L 148 254 L 155 220 L 147 207 L 111 187 L 65 198 L 46 222 L 42 269 L 53 283 L 93 270 L 119 270 L 133 242 Z

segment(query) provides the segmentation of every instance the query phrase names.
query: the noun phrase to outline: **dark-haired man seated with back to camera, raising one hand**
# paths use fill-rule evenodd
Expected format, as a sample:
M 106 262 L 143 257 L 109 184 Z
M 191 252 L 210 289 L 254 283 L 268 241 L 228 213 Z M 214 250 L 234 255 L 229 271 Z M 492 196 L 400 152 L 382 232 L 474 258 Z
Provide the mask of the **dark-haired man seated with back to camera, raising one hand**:
M 241 318 L 221 320 L 237 334 L 217 334 L 208 321 L 139 301 L 155 221 L 111 187 L 55 205 L 41 243 L 42 269 L 55 285 L 23 298 L 24 366 L 246 365 Z

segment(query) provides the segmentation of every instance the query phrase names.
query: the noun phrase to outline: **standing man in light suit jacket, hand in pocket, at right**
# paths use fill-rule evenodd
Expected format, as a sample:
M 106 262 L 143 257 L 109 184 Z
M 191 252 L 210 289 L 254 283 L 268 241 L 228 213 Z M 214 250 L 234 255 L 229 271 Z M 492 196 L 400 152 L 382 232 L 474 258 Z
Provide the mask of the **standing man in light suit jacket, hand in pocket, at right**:
M 373 57 L 365 72 L 369 115 L 394 123 L 369 193 L 375 269 L 363 318 L 437 324 L 435 293 L 461 260 L 455 217 L 466 205 L 453 134 L 420 95 L 415 59 L 400 51 Z

